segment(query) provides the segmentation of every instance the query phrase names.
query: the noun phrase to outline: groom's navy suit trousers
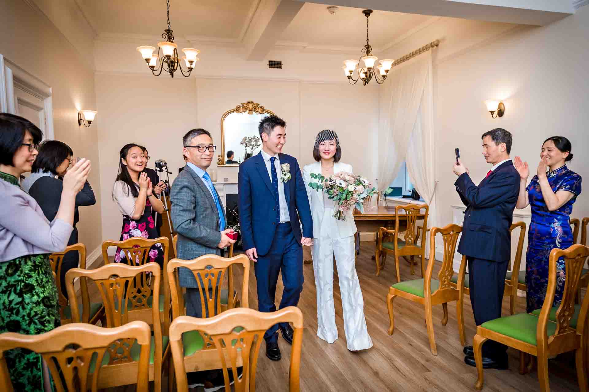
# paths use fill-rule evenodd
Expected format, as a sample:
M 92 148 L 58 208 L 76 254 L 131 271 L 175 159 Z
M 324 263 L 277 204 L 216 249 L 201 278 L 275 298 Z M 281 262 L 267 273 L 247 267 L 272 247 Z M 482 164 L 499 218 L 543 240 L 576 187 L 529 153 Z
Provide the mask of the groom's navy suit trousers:
M 277 224 L 274 240 L 267 254 L 258 255 L 254 270 L 257 280 L 258 309 L 262 312 L 276 311 L 276 283 L 282 269 L 284 292 L 279 309 L 296 306 L 303 290 L 303 247 L 294 238 L 290 222 Z M 281 323 L 284 327 L 288 323 Z M 264 334 L 268 342 L 278 340 L 278 325 L 274 324 Z

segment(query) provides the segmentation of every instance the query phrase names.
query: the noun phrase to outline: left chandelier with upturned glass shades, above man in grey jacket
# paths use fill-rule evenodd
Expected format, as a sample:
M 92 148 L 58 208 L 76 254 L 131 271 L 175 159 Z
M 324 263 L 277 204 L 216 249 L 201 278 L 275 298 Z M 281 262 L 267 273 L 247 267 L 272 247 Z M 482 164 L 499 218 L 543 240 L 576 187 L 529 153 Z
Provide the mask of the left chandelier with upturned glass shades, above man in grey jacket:
M 166 0 L 166 4 L 168 10 L 168 28 L 165 29 L 164 34 L 161 35 L 161 38 L 166 39 L 166 41 L 158 42 L 157 55 L 153 54 L 153 51 L 155 50 L 154 46 L 138 46 L 137 51 L 141 53 L 141 56 L 151 69 L 151 73 L 155 76 L 160 76 L 161 71 L 166 71 L 171 77 L 174 77 L 174 72 L 180 69 L 180 73 L 184 77 L 189 77 L 194 69 L 194 65 L 196 65 L 196 62 L 198 61 L 197 55 L 200 51 L 194 48 L 182 49 L 184 52 L 182 59 L 187 68 L 187 70 L 184 71 L 182 64 L 180 64 L 180 59 L 178 59 L 178 51 L 176 49 L 178 45 L 174 44 L 174 34 L 170 26 L 170 0 Z M 163 52 L 163 56 L 161 57 L 160 51 Z

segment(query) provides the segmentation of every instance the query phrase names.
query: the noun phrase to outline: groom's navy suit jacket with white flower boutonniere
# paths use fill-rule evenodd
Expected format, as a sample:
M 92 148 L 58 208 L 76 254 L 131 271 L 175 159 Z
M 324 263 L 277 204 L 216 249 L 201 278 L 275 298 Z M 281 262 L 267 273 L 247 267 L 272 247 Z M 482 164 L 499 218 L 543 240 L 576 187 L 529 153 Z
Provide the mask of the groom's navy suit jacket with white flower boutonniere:
M 284 182 L 284 197 L 289 207 L 290 225 L 294 238 L 313 237 L 313 218 L 303 176 L 296 158 L 279 154 L 280 164 L 290 164 L 289 181 Z M 280 173 L 277 173 L 280 178 Z M 276 210 L 272 181 L 262 152 L 239 165 L 239 222 L 245 250 L 256 248 L 258 255 L 270 250 L 276 231 Z M 299 217 L 303 224 L 301 234 Z

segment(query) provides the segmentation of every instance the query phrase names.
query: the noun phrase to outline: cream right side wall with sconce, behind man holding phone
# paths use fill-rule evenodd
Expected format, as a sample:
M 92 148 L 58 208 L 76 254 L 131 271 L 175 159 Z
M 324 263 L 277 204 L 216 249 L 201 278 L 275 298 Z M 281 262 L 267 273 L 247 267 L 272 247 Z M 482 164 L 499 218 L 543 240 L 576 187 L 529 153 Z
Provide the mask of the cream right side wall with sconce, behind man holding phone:
M 475 182 L 489 170 L 481 155 L 481 134 L 492 128 L 514 135 L 512 156 L 537 167 L 545 138 L 562 135 L 573 144 L 571 170 L 589 178 L 589 7 L 554 24 L 518 27 L 441 18 L 391 48 L 391 58 L 440 38 L 434 52 L 436 190 L 438 222 L 452 221 L 450 205 L 460 200 L 452 174 L 454 148 Z M 394 70 L 394 69 L 393 69 Z M 393 72 L 393 71 L 391 71 Z M 492 119 L 482 101 L 502 99 L 504 117 Z M 587 191 L 573 217 L 589 215 Z

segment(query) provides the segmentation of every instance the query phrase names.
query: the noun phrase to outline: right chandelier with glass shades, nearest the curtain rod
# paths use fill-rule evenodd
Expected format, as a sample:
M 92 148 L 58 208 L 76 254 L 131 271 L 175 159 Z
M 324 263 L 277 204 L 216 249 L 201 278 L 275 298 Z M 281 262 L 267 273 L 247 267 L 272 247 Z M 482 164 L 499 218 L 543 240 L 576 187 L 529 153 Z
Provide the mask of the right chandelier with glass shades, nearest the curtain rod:
M 362 11 L 362 14 L 366 16 L 366 45 L 364 45 L 364 48 L 362 49 L 362 53 L 365 54 L 365 56 L 360 57 L 359 60 L 344 61 L 343 64 L 345 65 L 342 69 L 346 77 L 348 77 L 349 84 L 356 84 L 361 80 L 364 85 L 367 85 L 372 78 L 375 78 L 378 84 L 382 84 L 395 60 L 380 60 L 380 64 L 376 67 L 378 72 L 375 72 L 374 65 L 378 60 L 378 57 L 372 55 L 372 46 L 370 46 L 368 41 L 368 17 L 372 14 L 372 9 L 365 9 Z M 364 62 L 364 67 L 359 67 L 360 61 Z M 354 72 L 356 73 L 356 78 L 353 78 Z

